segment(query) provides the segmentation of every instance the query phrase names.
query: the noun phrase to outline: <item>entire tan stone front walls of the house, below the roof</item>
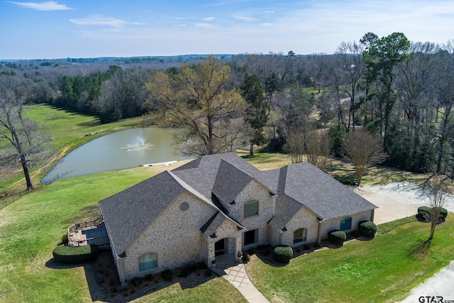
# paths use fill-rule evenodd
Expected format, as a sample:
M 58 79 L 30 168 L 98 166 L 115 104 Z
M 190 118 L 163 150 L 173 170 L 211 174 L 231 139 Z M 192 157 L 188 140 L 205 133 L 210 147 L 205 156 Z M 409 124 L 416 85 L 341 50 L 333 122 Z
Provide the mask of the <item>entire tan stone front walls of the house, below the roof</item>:
M 256 180 L 248 185 L 235 197 L 234 204 L 224 205 L 228 216 L 245 227 L 239 231 L 238 224 L 225 219 L 216 229 L 216 237 L 206 238 L 200 228 L 216 213 L 216 207 L 204 202 L 194 194 L 184 191 L 170 203 L 153 223 L 145 228 L 126 249 L 126 257 L 117 258 L 116 265 L 121 282 L 133 277 L 155 274 L 167 268 L 178 268 L 189 263 L 204 262 L 211 265 L 215 260 L 216 242 L 224 241 L 224 250 L 240 260 L 238 253 L 243 249 L 258 245 L 301 246 L 304 243 L 315 243 L 327 238 L 328 231 L 338 229 L 341 219 L 332 219 L 319 223 L 317 216 L 306 206 L 302 206 L 297 214 L 286 224 L 287 231 L 276 231 L 268 222 L 275 213 L 276 196 Z M 258 214 L 244 217 L 244 205 L 250 201 L 258 202 Z M 182 206 L 182 204 L 187 204 Z M 189 206 L 189 207 L 186 207 Z M 371 220 L 373 211 L 365 211 L 352 215 L 353 231 L 362 220 Z M 306 241 L 293 243 L 294 231 L 306 228 Z M 244 246 L 245 232 L 258 230 L 257 243 Z M 146 253 L 157 255 L 157 268 L 140 272 L 138 259 Z

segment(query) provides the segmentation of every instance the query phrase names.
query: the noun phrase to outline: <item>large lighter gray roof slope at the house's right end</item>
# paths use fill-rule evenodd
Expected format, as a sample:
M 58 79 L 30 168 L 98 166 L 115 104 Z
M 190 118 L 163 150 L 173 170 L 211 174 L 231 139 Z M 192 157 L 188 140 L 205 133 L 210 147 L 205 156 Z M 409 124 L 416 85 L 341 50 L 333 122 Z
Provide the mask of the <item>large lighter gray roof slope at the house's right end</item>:
M 279 178 L 279 187 L 282 181 Z M 284 194 L 304 204 L 322 221 L 377 208 L 308 162 L 287 167 Z

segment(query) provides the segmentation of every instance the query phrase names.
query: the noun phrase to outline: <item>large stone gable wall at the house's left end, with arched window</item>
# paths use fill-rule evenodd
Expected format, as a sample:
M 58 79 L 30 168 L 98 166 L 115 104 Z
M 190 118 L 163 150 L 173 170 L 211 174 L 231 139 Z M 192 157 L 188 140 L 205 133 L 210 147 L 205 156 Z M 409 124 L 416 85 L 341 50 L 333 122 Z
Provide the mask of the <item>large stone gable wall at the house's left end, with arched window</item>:
M 180 209 L 184 202 L 189 204 L 186 211 Z M 203 234 L 199 228 L 214 213 L 212 206 L 189 192 L 180 194 L 126 249 L 126 258 L 123 258 L 126 280 L 166 268 L 200 262 Z M 156 253 L 157 268 L 139 272 L 138 258 L 145 253 Z

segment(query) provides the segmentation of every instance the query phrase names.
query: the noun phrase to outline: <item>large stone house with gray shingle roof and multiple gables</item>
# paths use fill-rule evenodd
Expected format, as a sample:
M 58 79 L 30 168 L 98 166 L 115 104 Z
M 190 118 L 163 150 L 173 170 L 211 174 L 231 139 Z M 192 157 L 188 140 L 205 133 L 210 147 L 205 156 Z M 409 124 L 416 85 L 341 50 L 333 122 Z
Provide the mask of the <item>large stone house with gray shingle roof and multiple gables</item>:
M 99 202 L 121 282 L 259 245 L 353 231 L 377 208 L 309 163 L 258 170 L 206 155 Z

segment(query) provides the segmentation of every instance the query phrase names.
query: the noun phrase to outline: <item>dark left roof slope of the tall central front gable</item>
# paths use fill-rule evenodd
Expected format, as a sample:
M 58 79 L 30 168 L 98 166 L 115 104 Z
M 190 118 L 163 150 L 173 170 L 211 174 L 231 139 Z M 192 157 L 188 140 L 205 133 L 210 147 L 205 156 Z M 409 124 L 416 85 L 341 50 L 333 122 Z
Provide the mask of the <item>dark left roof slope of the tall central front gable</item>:
M 212 191 L 221 202 L 230 204 L 251 180 L 253 177 L 221 160 Z

